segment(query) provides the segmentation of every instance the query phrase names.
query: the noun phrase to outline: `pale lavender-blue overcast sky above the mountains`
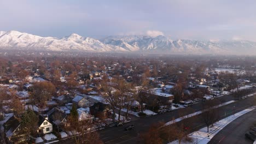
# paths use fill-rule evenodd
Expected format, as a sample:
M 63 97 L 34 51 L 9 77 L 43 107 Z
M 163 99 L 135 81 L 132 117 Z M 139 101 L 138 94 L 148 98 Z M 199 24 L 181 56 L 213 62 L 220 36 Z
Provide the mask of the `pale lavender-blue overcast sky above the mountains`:
M 40 36 L 168 35 L 256 41 L 256 1 L 0 0 L 0 31 Z

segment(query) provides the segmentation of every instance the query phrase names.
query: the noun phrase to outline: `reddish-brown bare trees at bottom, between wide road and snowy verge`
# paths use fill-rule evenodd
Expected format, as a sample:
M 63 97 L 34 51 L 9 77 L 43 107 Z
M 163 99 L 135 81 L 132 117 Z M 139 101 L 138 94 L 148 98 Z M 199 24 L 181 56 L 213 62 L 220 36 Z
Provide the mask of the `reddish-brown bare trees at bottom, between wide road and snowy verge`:
M 209 100 L 203 103 L 203 113 L 197 116 L 188 117 L 188 114 L 193 113 L 194 110 L 190 107 L 181 109 L 178 111 L 179 118 L 182 121 L 176 122 L 172 119 L 171 123 L 166 125 L 164 122 L 158 122 L 152 124 L 147 132 L 139 135 L 138 142 L 144 144 L 162 143 L 164 141 L 171 142 L 178 140 L 178 143 L 182 141 L 190 141 L 190 134 L 198 128 L 198 123 L 203 122 L 207 126 L 207 132 L 209 132 L 210 125 L 219 119 L 220 101 L 217 99 Z

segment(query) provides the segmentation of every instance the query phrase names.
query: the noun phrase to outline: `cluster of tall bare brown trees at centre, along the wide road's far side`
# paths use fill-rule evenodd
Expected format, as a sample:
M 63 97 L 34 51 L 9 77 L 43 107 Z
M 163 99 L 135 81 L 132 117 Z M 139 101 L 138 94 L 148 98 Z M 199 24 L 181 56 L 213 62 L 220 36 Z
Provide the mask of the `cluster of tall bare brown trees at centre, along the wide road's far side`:
M 123 108 L 126 108 L 127 118 L 134 100 L 137 100 L 139 105 L 141 105 L 140 111 L 143 113 L 143 103 L 147 101 L 150 95 L 150 85 L 147 76 L 142 76 L 139 84 L 141 85 L 136 86 L 135 83 L 127 83 L 125 79 L 120 77 L 113 79 L 111 82 L 107 79 L 101 82 L 99 92 L 113 110 L 113 121 L 115 121 L 115 110 L 118 111 L 118 121 L 120 121 Z

